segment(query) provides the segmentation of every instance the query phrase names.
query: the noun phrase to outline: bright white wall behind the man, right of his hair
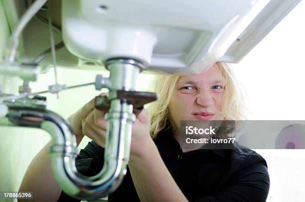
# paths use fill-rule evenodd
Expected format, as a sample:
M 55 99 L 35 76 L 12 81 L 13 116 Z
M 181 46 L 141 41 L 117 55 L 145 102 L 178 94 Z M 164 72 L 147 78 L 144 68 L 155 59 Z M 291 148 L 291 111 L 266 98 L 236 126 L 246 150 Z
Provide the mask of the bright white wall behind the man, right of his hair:
M 248 92 L 251 120 L 305 120 L 304 11 L 303 0 L 242 61 L 233 64 Z M 267 202 L 304 202 L 305 150 L 256 151 L 268 164 Z

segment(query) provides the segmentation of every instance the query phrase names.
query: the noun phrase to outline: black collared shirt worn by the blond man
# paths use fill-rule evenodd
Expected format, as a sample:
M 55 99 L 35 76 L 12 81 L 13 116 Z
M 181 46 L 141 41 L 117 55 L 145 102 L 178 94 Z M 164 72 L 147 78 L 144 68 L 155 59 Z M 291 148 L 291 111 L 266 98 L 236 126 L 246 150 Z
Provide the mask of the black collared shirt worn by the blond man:
M 190 202 L 265 202 L 270 179 L 265 159 L 245 147 L 200 149 L 183 153 L 169 130 L 154 139 L 174 181 Z M 104 163 L 104 148 L 94 141 L 80 151 L 77 170 L 86 176 L 98 174 Z M 63 192 L 58 201 L 75 201 Z M 138 202 L 129 169 L 109 202 Z

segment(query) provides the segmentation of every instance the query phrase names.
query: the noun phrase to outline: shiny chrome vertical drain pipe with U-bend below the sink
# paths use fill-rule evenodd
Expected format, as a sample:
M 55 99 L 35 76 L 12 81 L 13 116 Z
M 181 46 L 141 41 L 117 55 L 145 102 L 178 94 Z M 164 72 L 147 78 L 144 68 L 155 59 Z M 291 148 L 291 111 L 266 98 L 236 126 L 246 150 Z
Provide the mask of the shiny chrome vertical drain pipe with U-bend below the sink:
M 114 192 L 122 183 L 130 157 L 132 124 L 136 116 L 133 114 L 133 105 L 128 100 L 119 99 L 117 91 L 134 91 L 137 75 L 143 65 L 132 59 L 112 59 L 106 67 L 110 71 L 111 86 L 108 86 L 110 109 L 105 114 L 107 133 L 102 171 L 96 176 L 84 177 L 76 171 L 74 157 L 59 159 L 54 150 L 51 152 L 54 156 L 52 165 L 57 165 L 60 169 L 61 166 L 58 165 L 62 162 L 67 178 L 70 179 L 63 180 L 65 177 L 60 175 L 62 172 L 52 168 L 56 181 L 63 191 L 78 199 L 92 200 Z M 60 155 L 62 153 L 64 151 L 59 152 Z

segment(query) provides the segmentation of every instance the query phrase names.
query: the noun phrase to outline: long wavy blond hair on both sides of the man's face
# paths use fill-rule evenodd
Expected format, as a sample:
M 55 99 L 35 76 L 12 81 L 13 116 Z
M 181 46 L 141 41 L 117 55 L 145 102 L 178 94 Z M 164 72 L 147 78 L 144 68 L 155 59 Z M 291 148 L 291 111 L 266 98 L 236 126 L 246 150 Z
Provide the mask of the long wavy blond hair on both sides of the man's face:
M 242 86 L 237 82 L 230 64 L 224 62 L 216 64 L 226 81 L 221 104 L 224 120 L 245 120 L 245 100 Z M 149 91 L 159 94 L 159 98 L 147 107 L 151 112 L 150 134 L 152 138 L 155 138 L 168 122 L 172 124 L 169 101 L 179 77 L 176 75 L 156 75 L 152 79 Z

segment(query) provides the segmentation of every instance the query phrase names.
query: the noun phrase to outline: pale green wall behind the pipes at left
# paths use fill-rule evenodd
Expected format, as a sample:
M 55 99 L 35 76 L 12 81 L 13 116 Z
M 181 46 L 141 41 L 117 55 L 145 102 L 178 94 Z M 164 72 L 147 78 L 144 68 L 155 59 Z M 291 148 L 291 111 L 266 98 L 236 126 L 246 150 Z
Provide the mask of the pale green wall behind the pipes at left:
M 101 73 L 109 76 L 108 72 L 58 68 L 59 83 L 67 86 L 93 82 L 96 74 Z M 141 88 L 137 90 L 146 90 L 151 78 L 152 75 L 142 74 L 138 81 Z M 22 80 L 17 77 L 0 75 L 0 85 L 6 93 L 17 93 L 21 84 Z M 53 69 L 39 75 L 37 82 L 30 83 L 30 87 L 32 92 L 37 92 L 46 90 L 48 85 L 52 84 Z M 47 96 L 47 109 L 67 118 L 99 93 L 100 91 L 96 91 L 92 85 L 60 92 L 58 100 L 55 94 L 44 95 Z M 50 136 L 39 129 L 0 126 L 0 191 L 18 191 L 29 163 L 49 140 Z M 85 147 L 89 141 L 89 138 L 84 138 L 79 148 Z

